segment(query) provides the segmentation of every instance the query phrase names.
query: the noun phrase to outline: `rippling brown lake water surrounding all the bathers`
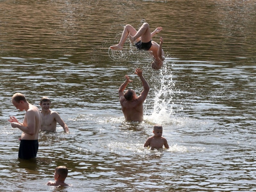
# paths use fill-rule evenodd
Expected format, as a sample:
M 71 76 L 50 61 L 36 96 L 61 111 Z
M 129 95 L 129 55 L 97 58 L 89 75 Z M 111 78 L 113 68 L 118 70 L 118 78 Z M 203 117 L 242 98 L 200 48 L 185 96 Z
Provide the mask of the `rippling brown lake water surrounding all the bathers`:
M 255 191 L 256 2 L 253 0 L 1 0 L 0 191 Z M 146 21 L 164 38 L 166 61 L 127 40 L 123 27 Z M 118 88 L 150 91 L 144 122 L 125 122 Z M 36 160 L 19 160 L 24 112 L 15 92 L 39 106 L 52 100 L 70 128 L 39 134 Z M 170 148 L 143 148 L 154 124 Z M 50 187 L 56 166 L 66 183 Z

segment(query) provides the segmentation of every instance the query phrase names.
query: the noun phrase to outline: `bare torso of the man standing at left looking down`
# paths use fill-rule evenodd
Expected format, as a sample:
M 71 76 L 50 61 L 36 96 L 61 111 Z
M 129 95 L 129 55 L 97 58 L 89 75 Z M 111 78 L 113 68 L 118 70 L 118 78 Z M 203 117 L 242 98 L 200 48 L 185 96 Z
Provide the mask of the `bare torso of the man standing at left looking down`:
M 42 115 L 41 115 L 40 110 L 34 105 L 29 104 L 29 109 L 28 110 L 32 110 L 33 113 L 35 114 L 35 134 L 29 135 L 27 133 L 22 132 L 20 139 L 23 139 L 23 140 L 37 140 L 38 139 L 38 134 L 40 132 Z M 26 112 L 25 117 L 24 117 L 24 121 L 23 121 L 23 125 L 25 127 L 28 126 L 27 118 L 28 117 L 27 117 L 27 112 Z

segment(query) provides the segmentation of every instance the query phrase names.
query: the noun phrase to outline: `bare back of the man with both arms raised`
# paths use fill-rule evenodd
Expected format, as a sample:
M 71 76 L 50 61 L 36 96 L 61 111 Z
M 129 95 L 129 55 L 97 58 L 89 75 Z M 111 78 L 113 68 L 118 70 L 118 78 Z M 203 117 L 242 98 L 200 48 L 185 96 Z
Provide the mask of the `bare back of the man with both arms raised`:
M 133 101 L 124 100 L 121 105 L 126 121 L 143 121 L 143 103 L 139 104 L 135 99 Z

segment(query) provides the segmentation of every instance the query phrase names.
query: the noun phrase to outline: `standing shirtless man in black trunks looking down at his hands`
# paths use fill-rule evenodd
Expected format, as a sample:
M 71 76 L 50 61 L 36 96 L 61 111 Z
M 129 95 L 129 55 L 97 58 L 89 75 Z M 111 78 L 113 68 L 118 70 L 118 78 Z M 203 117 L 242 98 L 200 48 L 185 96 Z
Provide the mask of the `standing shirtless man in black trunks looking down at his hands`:
M 38 133 L 40 131 L 42 115 L 39 109 L 28 103 L 25 96 L 21 93 L 15 93 L 12 96 L 12 104 L 20 111 L 26 111 L 23 123 L 20 123 L 14 116 L 8 120 L 13 128 L 19 128 L 22 131 L 19 158 L 35 158 L 38 151 Z

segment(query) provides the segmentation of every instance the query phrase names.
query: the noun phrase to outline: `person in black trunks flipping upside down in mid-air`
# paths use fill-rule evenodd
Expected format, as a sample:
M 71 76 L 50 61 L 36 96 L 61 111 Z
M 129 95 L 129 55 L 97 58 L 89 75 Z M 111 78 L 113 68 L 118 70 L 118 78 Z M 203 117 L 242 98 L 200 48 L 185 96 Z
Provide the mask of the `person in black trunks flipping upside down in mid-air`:
M 160 37 L 160 44 L 157 44 L 151 39 L 156 33 L 159 33 L 161 30 L 162 27 L 158 27 L 155 31 L 150 33 L 148 23 L 143 23 L 138 31 L 136 31 L 136 29 L 133 28 L 131 25 L 126 25 L 124 27 L 120 42 L 117 45 L 110 46 L 110 48 L 113 50 L 122 50 L 124 42 L 129 36 L 131 43 L 135 42 L 135 46 L 137 47 L 137 49 L 149 52 L 149 54 L 153 57 L 153 62 L 151 63 L 152 68 L 159 70 L 163 65 L 163 61 L 165 60 L 164 51 L 162 49 L 163 38 Z

